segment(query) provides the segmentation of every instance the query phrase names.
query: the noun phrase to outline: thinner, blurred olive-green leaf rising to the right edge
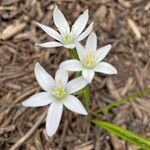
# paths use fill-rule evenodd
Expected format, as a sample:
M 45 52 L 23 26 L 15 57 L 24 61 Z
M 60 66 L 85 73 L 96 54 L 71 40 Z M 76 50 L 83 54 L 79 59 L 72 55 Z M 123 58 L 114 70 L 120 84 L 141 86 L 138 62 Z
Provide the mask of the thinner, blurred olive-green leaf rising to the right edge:
M 134 100 L 135 98 L 137 98 L 139 96 L 143 96 L 143 94 L 146 94 L 146 93 L 150 93 L 150 89 L 142 89 L 142 90 L 139 90 L 139 91 L 135 91 L 135 92 L 131 93 L 128 96 L 124 96 L 121 99 L 118 99 L 118 100 L 116 100 L 116 101 L 114 101 L 114 102 L 112 102 L 112 103 L 110 103 L 106 106 L 103 106 L 103 107 L 97 109 L 95 112 L 96 113 L 105 112 L 105 111 L 111 109 L 112 107 L 116 107 L 116 106 L 118 106 L 120 104 L 123 104 L 127 101 Z

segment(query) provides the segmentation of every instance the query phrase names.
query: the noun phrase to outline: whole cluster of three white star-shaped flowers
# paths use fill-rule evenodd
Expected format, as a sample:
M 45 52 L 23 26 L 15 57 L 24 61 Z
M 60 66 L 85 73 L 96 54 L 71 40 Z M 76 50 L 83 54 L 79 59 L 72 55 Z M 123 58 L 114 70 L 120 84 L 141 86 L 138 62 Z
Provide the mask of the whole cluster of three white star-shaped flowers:
M 53 20 L 59 33 L 48 26 L 37 23 L 56 41 L 36 45 L 46 48 L 60 46 L 69 49 L 76 48 L 79 56 L 79 60 L 71 59 L 62 62 L 56 71 L 55 79 L 53 79 L 39 63 L 35 65 L 34 73 L 36 79 L 45 92 L 39 92 L 31 96 L 25 100 L 22 105 L 26 107 L 41 107 L 51 104 L 46 119 L 46 131 L 49 136 L 54 135 L 58 129 L 63 105 L 73 112 L 87 115 L 86 109 L 73 94 L 83 89 L 88 83 L 91 83 L 95 72 L 105 74 L 117 73 L 117 70 L 112 65 L 102 61 L 110 51 L 111 45 L 106 45 L 97 50 L 97 37 L 96 34 L 92 32 L 93 22 L 83 31 L 88 19 L 88 10 L 86 10 L 77 18 L 70 29 L 64 15 L 57 6 L 55 6 Z M 79 41 L 88 35 L 86 45 L 83 47 Z M 67 71 L 81 71 L 82 76 L 68 82 Z

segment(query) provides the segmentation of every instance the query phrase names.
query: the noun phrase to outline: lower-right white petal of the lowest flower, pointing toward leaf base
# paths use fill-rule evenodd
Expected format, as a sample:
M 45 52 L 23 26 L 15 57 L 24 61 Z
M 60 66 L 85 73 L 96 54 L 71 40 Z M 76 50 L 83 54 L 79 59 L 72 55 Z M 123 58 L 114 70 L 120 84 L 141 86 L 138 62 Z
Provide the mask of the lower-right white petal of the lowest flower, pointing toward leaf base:
M 87 111 L 83 107 L 82 103 L 73 95 L 68 95 L 63 101 L 64 105 L 71 111 L 82 115 L 87 115 Z

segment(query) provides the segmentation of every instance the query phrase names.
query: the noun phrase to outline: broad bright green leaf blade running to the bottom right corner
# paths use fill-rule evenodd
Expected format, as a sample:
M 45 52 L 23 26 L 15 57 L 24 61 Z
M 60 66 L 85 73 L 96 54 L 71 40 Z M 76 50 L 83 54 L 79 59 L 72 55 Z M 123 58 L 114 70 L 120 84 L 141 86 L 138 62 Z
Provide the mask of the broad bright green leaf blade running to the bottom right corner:
M 106 121 L 93 119 L 92 122 L 129 143 L 135 144 L 142 149 L 150 150 L 150 141 L 137 133 Z

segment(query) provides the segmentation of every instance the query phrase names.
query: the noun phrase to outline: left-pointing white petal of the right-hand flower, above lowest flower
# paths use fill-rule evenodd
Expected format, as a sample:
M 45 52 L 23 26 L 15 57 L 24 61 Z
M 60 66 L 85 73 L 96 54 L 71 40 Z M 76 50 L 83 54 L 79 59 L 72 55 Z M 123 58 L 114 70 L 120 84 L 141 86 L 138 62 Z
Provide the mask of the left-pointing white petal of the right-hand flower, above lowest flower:
M 66 60 L 60 64 L 60 68 L 63 68 L 68 71 L 81 71 L 82 70 L 82 64 L 79 60 L 71 59 Z

